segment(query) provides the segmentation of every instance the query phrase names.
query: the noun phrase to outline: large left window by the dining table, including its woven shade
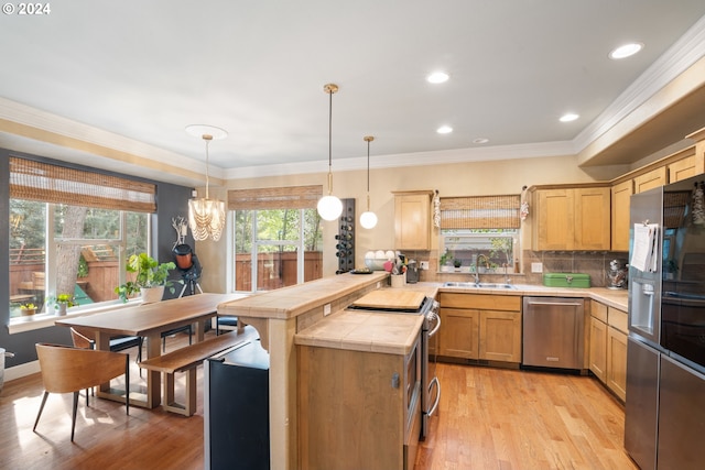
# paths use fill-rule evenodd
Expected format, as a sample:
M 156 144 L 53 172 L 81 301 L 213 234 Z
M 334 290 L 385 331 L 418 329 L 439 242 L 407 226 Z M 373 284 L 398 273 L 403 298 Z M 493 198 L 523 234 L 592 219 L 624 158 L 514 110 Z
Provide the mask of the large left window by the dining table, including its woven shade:
M 10 159 L 10 317 L 68 294 L 76 308 L 117 299 L 124 260 L 148 251 L 154 186 Z M 137 209 L 137 210 L 132 210 Z

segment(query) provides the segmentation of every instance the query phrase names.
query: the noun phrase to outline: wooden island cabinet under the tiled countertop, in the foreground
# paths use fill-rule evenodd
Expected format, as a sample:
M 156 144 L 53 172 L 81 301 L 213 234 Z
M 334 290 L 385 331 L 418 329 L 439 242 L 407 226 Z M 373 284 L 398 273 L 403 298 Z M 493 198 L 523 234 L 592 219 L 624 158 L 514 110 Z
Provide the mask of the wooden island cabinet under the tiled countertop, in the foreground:
M 421 400 L 405 439 L 404 356 L 299 346 L 297 359 L 299 468 L 413 468 Z

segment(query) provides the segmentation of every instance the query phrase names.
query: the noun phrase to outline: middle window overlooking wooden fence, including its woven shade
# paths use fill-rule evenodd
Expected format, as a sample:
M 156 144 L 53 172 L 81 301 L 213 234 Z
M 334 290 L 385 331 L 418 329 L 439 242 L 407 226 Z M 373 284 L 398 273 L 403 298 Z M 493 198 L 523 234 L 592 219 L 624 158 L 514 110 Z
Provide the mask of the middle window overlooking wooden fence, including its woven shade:
M 321 186 L 228 192 L 235 291 L 271 291 L 322 277 L 323 233 L 315 209 L 321 195 Z

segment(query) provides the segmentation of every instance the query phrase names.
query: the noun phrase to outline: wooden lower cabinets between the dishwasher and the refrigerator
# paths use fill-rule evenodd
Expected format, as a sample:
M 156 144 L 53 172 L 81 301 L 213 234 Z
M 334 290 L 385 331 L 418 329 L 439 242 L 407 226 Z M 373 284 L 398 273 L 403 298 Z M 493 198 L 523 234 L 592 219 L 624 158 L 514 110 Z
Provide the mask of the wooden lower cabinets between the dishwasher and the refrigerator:
M 627 313 L 590 303 L 589 369 L 621 401 L 627 400 Z

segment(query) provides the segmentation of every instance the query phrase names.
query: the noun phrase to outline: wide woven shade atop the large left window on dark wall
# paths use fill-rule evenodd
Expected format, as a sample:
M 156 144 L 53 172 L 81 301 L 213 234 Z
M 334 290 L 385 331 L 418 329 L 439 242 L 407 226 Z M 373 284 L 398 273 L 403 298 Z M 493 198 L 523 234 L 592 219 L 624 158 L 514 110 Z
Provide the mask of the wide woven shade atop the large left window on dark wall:
M 102 209 L 156 211 L 156 186 L 10 157 L 10 197 Z

